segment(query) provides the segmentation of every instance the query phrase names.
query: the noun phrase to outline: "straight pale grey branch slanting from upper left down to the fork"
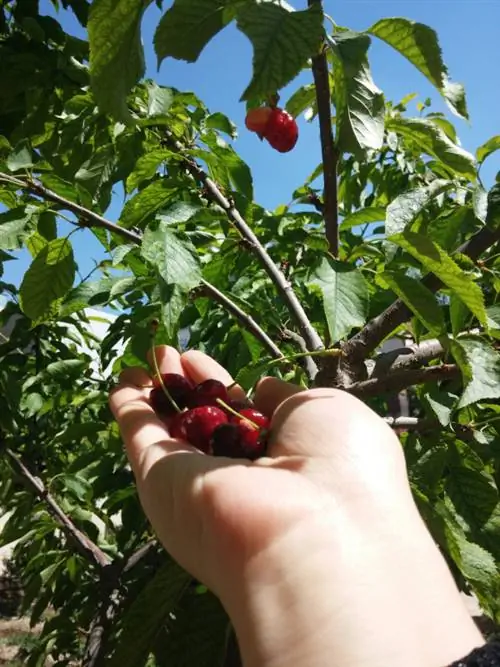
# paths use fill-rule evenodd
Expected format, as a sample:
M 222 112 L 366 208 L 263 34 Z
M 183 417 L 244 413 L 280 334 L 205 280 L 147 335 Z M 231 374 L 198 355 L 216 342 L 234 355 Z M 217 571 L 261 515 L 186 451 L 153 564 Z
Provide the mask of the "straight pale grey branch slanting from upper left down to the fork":
M 182 153 L 184 150 L 182 144 L 179 141 L 176 141 L 169 132 L 167 132 L 166 136 L 172 146 Z M 302 304 L 293 291 L 292 285 L 288 282 L 283 272 L 280 271 L 273 262 L 262 243 L 243 219 L 238 209 L 222 194 L 214 181 L 209 178 L 207 173 L 194 160 L 186 158 L 184 164 L 191 176 L 196 181 L 203 184 L 208 196 L 224 210 L 228 219 L 248 243 L 251 251 L 259 260 L 267 275 L 274 283 L 276 290 L 288 306 L 288 310 L 297 323 L 300 332 L 307 343 L 308 349 L 310 351 L 322 349 L 324 347 L 323 342 L 319 337 L 318 332 L 309 321 Z

